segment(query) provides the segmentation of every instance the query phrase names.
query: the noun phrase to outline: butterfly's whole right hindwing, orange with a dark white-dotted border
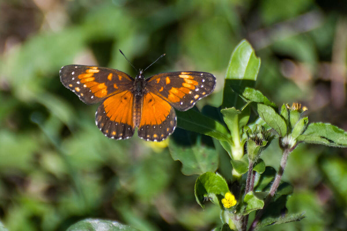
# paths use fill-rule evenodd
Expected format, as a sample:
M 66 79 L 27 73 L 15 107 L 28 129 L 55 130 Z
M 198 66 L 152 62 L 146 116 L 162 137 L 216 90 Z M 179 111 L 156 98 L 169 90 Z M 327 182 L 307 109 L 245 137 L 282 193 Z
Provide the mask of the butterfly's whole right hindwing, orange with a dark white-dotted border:
M 146 141 L 162 141 L 176 128 L 175 109 L 164 99 L 147 92 L 143 97 L 138 136 Z

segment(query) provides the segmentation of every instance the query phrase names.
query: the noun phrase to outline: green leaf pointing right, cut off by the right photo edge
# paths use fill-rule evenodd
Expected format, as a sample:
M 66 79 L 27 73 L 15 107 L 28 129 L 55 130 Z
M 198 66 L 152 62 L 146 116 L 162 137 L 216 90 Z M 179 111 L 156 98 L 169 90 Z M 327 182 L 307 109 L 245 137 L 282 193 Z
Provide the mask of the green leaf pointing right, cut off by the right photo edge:
M 347 148 L 347 132 L 328 123 L 309 124 L 305 132 L 299 135 L 296 140 L 298 142 Z

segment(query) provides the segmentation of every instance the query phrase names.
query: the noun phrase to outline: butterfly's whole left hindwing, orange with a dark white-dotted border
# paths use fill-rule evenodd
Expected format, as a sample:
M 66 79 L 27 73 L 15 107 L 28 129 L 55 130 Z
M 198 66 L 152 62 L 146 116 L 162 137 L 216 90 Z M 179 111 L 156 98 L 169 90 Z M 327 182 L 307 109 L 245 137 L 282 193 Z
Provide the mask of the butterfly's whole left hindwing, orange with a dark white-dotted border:
M 107 137 L 121 140 L 134 135 L 134 94 L 129 90 L 105 99 L 95 113 L 96 126 Z

